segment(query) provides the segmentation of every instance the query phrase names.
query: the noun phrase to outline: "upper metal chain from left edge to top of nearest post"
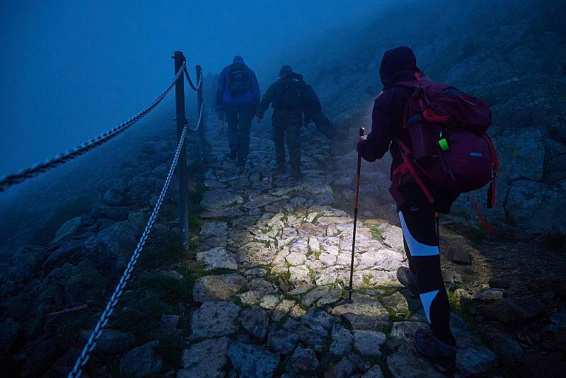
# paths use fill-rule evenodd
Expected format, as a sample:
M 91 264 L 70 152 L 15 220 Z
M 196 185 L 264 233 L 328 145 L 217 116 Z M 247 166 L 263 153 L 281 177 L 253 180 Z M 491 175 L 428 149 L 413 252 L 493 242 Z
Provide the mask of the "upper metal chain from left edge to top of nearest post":
M 147 107 L 144 110 L 141 110 L 140 113 L 137 113 L 137 115 L 134 115 L 134 117 L 130 118 L 125 122 L 122 122 L 120 125 L 114 127 L 113 129 L 108 130 L 103 134 L 100 134 L 98 137 L 90 139 L 88 140 L 88 142 L 84 142 L 83 144 L 80 144 L 74 149 L 69 149 L 69 151 L 64 152 L 63 154 L 59 154 L 54 158 L 48 159 L 43 163 L 36 164 L 35 166 L 32 166 L 30 168 L 26 168 L 23 171 L 20 171 L 19 173 L 14 173 L 5 176 L 0 180 L 0 193 L 4 192 L 12 185 L 23 183 L 23 181 L 28 180 L 28 178 L 39 176 L 41 173 L 45 173 L 52 168 L 56 168 L 57 166 L 67 163 L 68 161 L 76 159 L 77 157 L 86 154 L 88 151 L 91 151 L 96 147 L 105 144 L 110 139 L 117 137 L 117 135 L 122 134 L 122 132 L 125 132 L 130 126 L 134 125 L 134 123 L 141 120 L 141 118 L 144 118 L 146 115 L 148 115 L 151 112 L 151 110 L 154 110 L 154 108 L 159 103 L 161 103 L 161 100 L 163 100 L 163 98 L 165 98 L 165 96 L 167 96 L 167 94 L 171 91 L 171 89 L 179 79 L 181 72 L 183 72 L 185 69 L 186 69 L 186 64 L 183 63 L 183 66 L 181 67 L 181 69 L 179 69 L 179 71 L 177 71 L 177 74 L 175 75 L 173 81 L 171 81 L 171 84 L 169 84 L 169 86 L 154 101 L 152 101 L 149 105 L 147 105 Z

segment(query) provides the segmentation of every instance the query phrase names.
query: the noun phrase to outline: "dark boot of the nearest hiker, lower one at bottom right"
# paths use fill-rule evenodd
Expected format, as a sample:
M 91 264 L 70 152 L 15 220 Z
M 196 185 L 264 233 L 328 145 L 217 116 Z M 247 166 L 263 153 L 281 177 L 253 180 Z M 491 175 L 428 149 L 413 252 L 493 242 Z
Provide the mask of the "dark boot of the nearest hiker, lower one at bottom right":
M 456 340 L 452 338 L 451 345 L 443 343 L 429 330 L 419 329 L 415 332 L 415 348 L 432 365 L 444 374 L 451 374 L 456 367 Z

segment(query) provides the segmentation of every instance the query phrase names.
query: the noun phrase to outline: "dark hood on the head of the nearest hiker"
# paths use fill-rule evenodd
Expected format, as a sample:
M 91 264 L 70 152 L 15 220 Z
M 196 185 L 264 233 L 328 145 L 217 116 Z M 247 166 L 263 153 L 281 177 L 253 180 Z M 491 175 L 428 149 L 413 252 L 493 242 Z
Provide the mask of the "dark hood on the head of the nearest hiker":
M 395 47 L 387 50 L 381 59 L 379 76 L 383 86 L 403 80 L 415 79 L 415 72 L 420 71 L 417 67 L 415 53 L 409 47 Z

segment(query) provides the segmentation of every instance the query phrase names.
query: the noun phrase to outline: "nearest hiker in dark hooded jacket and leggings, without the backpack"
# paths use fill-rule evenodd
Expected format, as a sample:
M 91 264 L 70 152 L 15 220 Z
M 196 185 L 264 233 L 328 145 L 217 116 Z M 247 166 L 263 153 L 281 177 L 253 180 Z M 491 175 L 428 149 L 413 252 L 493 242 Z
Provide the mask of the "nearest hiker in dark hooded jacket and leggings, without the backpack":
M 412 94 L 412 89 L 395 86 L 395 83 L 415 81 L 415 74 L 422 72 L 417 67 L 412 50 L 409 47 L 397 47 L 385 52 L 379 74 L 383 92 L 374 103 L 371 132 L 367 137 L 360 138 L 357 150 L 367 161 L 381 159 L 389 150 L 393 156 L 393 181 L 393 176 L 398 178 L 395 169 L 403 163 L 395 139 L 410 148 L 408 131 L 403 129 L 403 118 Z M 424 177 L 422 181 L 434 197 L 432 204 L 410 175 L 403 175 L 400 181 L 395 180 L 390 189 L 398 203 L 409 264 L 409 268 L 399 268 L 397 277 L 413 295 L 420 296 L 430 324 L 430 331 L 415 333 L 417 350 L 439 370 L 451 371 L 456 361 L 456 340 L 450 330 L 449 302 L 440 268 L 437 213 L 448 213 L 458 195 L 435 188 Z

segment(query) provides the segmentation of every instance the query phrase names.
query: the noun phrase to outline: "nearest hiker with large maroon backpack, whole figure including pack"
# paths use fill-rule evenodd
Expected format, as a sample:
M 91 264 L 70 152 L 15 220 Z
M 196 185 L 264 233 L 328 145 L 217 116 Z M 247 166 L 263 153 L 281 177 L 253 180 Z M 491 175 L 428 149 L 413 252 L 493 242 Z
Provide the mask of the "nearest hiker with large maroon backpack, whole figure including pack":
M 398 280 L 419 296 L 429 330 L 415 333 L 415 347 L 441 372 L 453 372 L 456 340 L 439 256 L 439 214 L 448 214 L 460 193 L 490 183 L 487 207 L 495 203 L 497 155 L 485 134 L 490 108 L 452 86 L 429 81 L 409 47 L 383 55 L 383 91 L 376 98 L 371 132 L 360 137 L 363 159 L 389 150 L 391 195 L 398 204 L 408 268 Z

